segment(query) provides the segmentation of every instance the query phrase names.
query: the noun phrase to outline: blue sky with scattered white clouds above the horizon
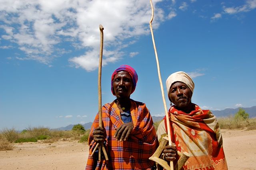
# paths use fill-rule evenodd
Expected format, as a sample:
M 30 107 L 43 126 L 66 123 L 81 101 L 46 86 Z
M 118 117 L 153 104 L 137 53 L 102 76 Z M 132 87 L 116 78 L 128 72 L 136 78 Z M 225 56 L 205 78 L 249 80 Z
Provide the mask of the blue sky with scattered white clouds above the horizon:
M 188 72 L 203 109 L 256 105 L 256 0 L 153 0 L 161 75 Z M 149 0 L 0 0 L 0 129 L 94 120 L 104 26 L 102 105 L 112 72 L 138 73 L 131 98 L 164 115 Z M 166 95 L 166 94 L 165 94 Z M 166 103 L 169 101 L 166 95 Z

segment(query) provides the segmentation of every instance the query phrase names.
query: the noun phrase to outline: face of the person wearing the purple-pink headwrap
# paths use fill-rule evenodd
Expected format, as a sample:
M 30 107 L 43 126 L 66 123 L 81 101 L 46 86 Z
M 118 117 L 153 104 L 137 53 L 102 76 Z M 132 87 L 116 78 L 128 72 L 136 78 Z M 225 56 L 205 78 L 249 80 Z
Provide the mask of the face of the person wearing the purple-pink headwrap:
M 113 91 L 117 98 L 130 98 L 132 78 L 126 71 L 120 71 L 113 80 Z

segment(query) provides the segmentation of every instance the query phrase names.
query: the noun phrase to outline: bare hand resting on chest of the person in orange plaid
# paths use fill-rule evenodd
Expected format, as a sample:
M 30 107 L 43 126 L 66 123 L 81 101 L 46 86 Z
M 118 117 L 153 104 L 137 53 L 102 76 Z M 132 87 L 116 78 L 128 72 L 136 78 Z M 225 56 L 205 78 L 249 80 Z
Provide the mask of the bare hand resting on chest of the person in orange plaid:
M 129 137 L 133 127 L 134 126 L 133 126 L 132 122 L 122 124 L 120 127 L 115 128 L 116 133 L 115 133 L 114 137 L 116 138 L 117 141 L 120 141 L 120 142 L 122 142 L 123 140 L 126 141 Z

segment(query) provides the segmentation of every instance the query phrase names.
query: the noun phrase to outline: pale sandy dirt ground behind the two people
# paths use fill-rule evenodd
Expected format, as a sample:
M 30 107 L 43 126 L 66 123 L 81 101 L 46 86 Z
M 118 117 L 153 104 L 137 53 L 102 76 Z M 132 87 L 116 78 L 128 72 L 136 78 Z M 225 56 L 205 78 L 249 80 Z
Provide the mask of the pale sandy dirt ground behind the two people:
M 256 170 L 256 130 L 222 129 L 229 170 Z M 88 145 L 77 141 L 20 143 L 0 151 L 1 170 L 84 170 Z

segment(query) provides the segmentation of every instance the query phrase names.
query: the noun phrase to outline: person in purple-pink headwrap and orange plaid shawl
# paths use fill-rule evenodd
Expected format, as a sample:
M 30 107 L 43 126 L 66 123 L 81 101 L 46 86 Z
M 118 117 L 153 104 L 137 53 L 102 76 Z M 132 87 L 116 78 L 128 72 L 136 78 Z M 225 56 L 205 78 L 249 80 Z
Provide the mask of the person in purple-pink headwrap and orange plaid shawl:
M 111 91 L 116 100 L 102 107 L 103 127 L 94 119 L 88 144 L 90 152 L 86 170 L 153 170 L 148 160 L 158 146 L 152 117 L 144 103 L 130 99 L 138 75 L 128 65 L 121 65 L 112 74 Z M 103 143 L 109 160 L 90 157 L 97 143 Z M 104 155 L 103 153 L 101 155 Z

